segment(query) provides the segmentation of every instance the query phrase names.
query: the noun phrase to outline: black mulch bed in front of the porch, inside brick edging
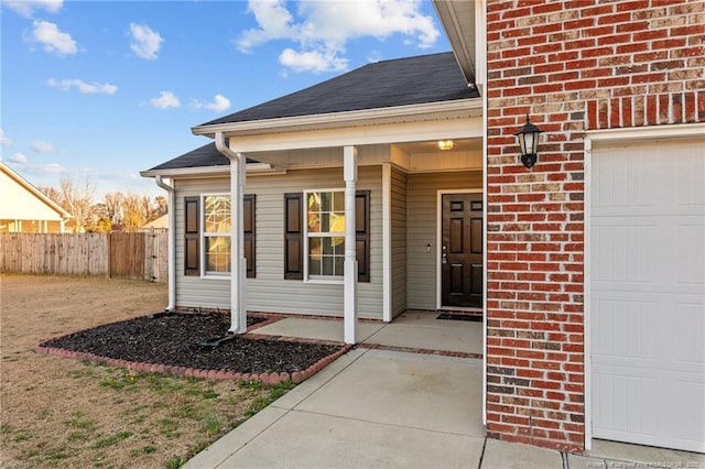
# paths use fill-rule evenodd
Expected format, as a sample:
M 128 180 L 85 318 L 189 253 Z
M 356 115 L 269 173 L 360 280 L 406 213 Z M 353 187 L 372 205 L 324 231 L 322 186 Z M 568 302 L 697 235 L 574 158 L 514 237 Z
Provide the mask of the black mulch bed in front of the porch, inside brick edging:
M 264 320 L 248 317 L 248 325 Z M 237 336 L 218 347 L 202 342 L 224 337 L 229 316 L 167 314 L 98 326 L 41 343 L 119 360 L 225 370 L 240 373 L 303 371 L 343 346 Z

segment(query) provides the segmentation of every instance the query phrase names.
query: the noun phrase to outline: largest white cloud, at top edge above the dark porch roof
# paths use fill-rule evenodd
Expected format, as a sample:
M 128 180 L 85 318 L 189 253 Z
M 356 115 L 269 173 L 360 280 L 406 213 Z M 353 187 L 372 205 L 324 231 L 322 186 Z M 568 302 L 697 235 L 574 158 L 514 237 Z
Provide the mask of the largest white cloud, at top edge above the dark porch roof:
M 285 0 L 250 0 L 248 9 L 259 29 L 242 32 L 234 41 L 241 52 L 276 40 L 299 43 L 289 47 L 280 63 L 296 72 L 340 72 L 348 61 L 341 57 L 350 40 L 372 36 L 380 41 L 393 35 L 420 48 L 435 44 L 441 33 L 431 15 L 421 11 L 421 0 L 301 1 L 290 11 Z

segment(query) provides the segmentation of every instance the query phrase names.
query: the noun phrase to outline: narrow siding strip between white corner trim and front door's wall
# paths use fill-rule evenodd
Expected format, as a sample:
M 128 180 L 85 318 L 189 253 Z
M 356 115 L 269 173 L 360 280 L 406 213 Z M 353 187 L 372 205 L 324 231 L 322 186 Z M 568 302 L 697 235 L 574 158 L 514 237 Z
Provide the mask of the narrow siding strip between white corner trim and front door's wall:
M 391 171 L 391 294 L 392 316 L 406 310 L 406 185 L 408 176 Z

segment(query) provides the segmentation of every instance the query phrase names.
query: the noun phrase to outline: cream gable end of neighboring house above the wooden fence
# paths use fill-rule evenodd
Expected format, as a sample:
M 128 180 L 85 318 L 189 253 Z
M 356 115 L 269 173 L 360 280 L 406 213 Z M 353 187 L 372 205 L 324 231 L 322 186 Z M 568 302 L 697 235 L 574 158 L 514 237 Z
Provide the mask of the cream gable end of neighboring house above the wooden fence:
M 36 217 L 40 215 L 30 211 L 37 210 L 40 207 L 48 208 L 50 212 L 55 212 L 56 217 L 53 219 L 67 220 L 72 218 L 68 211 L 2 162 L 0 162 L 0 176 L 2 176 L 0 177 L 0 194 L 3 194 L 3 197 L 0 197 L 1 219 L 37 219 Z

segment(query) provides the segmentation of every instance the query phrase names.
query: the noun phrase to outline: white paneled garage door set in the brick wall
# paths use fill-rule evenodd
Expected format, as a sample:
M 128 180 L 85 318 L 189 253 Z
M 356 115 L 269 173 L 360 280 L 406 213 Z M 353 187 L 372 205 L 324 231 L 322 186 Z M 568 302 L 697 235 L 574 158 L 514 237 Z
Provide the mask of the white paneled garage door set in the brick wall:
M 705 451 L 705 138 L 596 145 L 593 435 Z

